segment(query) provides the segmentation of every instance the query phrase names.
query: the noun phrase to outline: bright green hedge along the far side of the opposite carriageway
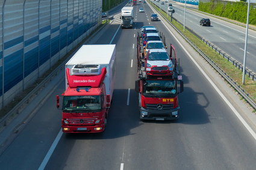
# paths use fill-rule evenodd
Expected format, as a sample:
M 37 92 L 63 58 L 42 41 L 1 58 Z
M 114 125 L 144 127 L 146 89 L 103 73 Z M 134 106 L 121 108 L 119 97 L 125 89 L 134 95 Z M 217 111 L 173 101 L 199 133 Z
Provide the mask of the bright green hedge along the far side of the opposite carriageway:
M 214 14 L 216 16 L 226 17 L 246 23 L 248 3 L 245 2 L 220 2 L 211 0 L 210 2 L 199 1 L 199 11 Z M 249 24 L 256 25 L 256 8 L 250 5 Z

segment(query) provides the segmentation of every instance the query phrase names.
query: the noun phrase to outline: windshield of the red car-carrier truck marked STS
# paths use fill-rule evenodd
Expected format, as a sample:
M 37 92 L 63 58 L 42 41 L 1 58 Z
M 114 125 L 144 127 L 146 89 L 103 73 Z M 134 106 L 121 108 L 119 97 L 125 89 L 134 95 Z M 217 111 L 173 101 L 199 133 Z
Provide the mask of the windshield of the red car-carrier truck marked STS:
M 166 96 L 175 96 L 175 80 L 145 80 L 143 82 L 143 95 L 166 94 Z M 157 96 L 159 97 L 159 96 Z

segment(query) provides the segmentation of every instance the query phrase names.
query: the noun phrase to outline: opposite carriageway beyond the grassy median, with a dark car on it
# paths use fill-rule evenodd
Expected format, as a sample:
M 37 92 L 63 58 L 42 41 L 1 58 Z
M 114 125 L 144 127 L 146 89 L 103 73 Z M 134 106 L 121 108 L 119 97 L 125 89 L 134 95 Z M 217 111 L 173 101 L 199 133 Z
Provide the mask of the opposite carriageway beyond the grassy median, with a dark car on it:
M 160 2 L 152 0 L 151 2 L 158 5 L 158 7 L 160 5 Z M 172 1 L 169 1 L 169 3 L 172 3 L 173 8 L 175 9 L 173 17 L 181 23 L 184 23 L 184 5 L 180 5 Z M 167 11 L 167 2 L 164 2 L 164 5 L 161 5 L 161 9 Z M 211 26 L 199 25 L 199 21 L 203 17 L 211 20 Z M 186 26 L 243 64 L 246 28 L 225 22 L 224 20 L 220 20 L 206 14 L 189 10 L 188 8 L 186 10 Z M 248 30 L 248 44 L 246 52 L 246 67 L 256 73 L 256 31 L 253 31 L 252 29 Z

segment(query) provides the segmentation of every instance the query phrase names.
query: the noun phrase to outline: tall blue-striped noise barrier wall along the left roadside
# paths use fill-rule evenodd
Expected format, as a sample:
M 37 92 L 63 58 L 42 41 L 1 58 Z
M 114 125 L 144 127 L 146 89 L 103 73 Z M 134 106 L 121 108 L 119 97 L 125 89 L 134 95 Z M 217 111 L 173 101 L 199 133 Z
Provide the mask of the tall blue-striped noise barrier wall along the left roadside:
M 101 24 L 102 0 L 0 1 L 0 109 Z

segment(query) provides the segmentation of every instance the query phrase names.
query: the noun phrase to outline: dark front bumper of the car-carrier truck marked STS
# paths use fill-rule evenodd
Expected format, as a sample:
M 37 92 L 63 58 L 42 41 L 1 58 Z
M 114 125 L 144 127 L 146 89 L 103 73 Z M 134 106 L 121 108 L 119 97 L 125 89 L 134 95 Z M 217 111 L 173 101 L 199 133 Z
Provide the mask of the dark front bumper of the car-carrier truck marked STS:
M 146 108 L 140 108 L 140 120 L 177 120 L 179 109 L 180 107 L 169 111 L 149 111 Z

